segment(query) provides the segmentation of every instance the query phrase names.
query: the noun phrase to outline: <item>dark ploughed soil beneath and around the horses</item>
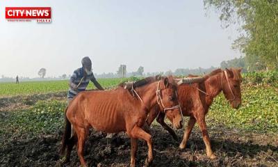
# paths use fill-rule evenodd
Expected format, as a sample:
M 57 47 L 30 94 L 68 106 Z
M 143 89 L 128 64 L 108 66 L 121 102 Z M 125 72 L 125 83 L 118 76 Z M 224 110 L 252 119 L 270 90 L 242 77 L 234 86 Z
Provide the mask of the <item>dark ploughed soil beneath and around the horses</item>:
M 63 99 L 63 94 L 44 95 L 49 100 Z M 0 100 L 0 120 L 8 119 L 14 109 L 28 109 L 40 97 L 20 97 Z M 22 102 L 25 102 L 23 104 Z M 4 105 L 5 104 L 5 105 Z M 195 127 L 185 150 L 179 150 L 179 143 L 156 123 L 151 132 L 154 139 L 154 162 L 152 166 L 278 166 L 278 135 L 254 134 L 228 129 L 224 125 L 213 124 L 208 120 L 208 132 L 213 150 L 218 157 L 208 159 L 199 129 Z M 213 126 L 211 126 L 211 124 Z M 63 125 L 63 122 L 62 124 Z M 18 134 L 17 134 L 18 133 Z M 177 131 L 179 137 L 183 130 Z M 0 131 L 0 166 L 79 166 L 79 158 L 74 149 L 71 162 L 61 163 L 58 149 L 63 127 L 51 133 L 33 134 Z M 85 159 L 89 166 L 129 166 L 130 140 L 120 133 L 114 138 L 106 134 L 91 132 L 85 145 Z M 143 166 L 147 157 L 147 145 L 139 142 L 137 166 Z

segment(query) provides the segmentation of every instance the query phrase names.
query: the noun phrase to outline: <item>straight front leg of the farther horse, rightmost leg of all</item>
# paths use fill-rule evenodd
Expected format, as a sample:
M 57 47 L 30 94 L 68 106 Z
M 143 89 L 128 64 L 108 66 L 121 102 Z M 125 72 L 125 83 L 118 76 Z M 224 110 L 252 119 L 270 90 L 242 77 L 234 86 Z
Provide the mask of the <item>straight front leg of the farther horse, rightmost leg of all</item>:
M 209 140 L 208 130 L 206 129 L 206 120 L 204 114 L 197 116 L 197 123 L 199 124 L 199 128 L 202 131 L 204 144 L 206 145 L 206 155 L 210 159 L 215 159 L 216 156 L 213 154 L 213 150 L 211 150 L 211 141 Z

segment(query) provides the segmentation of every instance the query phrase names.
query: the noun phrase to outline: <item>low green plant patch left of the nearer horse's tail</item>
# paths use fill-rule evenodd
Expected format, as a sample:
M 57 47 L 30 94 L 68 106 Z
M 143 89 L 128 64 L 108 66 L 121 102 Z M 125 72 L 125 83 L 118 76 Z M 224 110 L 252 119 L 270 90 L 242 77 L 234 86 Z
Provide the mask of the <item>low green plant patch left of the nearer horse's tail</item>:
M 39 101 L 31 109 L 3 113 L 0 134 L 51 134 L 64 123 L 65 102 Z

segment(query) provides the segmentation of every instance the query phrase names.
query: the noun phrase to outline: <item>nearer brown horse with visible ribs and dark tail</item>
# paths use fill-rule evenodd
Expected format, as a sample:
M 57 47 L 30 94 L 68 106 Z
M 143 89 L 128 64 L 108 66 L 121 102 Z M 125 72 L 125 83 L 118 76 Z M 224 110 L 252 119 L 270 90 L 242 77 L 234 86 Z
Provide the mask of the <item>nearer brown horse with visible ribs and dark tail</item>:
M 83 146 L 90 127 L 107 133 L 126 132 L 131 138 L 131 166 L 135 166 L 138 138 L 147 141 L 148 157 L 145 165 L 153 160 L 152 136 L 142 129 L 149 111 L 160 108 L 174 127 L 182 127 L 183 116 L 177 98 L 177 84 L 172 77 L 155 81 L 154 77 L 142 79 L 133 84 L 132 95 L 129 90 L 118 87 L 115 90 L 87 91 L 79 93 L 67 107 L 65 113 L 65 133 L 61 153 L 67 148 L 66 161 L 70 161 L 73 146 L 82 166 Z M 160 113 L 160 112 L 158 112 Z M 71 125 L 74 134 L 71 136 Z

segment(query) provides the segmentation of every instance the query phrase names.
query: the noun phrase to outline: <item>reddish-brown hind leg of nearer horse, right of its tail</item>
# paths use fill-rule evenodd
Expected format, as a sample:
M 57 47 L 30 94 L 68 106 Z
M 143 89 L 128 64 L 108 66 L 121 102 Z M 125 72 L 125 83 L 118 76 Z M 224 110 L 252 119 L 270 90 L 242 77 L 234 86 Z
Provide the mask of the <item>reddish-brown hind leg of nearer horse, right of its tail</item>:
M 83 149 L 84 149 L 84 145 L 85 145 L 85 140 L 88 136 L 88 129 L 85 129 L 83 127 L 78 127 L 76 128 L 76 134 L 78 137 L 78 143 L 77 143 L 77 154 L 79 155 L 79 159 L 80 159 L 80 163 L 81 166 L 86 167 L 86 162 L 85 159 L 83 157 Z

